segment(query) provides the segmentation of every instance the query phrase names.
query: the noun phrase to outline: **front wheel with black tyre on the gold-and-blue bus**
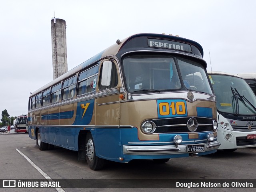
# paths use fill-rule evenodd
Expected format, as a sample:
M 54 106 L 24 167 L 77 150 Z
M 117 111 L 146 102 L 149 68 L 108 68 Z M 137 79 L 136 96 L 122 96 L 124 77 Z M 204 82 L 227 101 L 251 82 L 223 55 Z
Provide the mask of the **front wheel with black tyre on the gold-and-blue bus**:
M 94 141 L 92 138 L 92 134 L 91 133 L 87 133 L 86 135 L 86 161 L 87 164 L 89 165 L 89 167 L 92 170 L 100 170 L 103 168 L 104 166 L 104 159 L 99 158 L 98 156 L 96 156 L 95 153 L 95 145 L 94 145 Z

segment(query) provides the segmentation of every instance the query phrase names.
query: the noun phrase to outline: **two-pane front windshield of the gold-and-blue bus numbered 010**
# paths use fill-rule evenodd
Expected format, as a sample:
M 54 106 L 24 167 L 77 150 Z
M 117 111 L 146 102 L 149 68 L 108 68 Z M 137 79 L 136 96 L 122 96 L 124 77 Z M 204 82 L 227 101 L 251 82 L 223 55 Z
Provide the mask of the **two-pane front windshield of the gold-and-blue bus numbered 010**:
M 178 62 L 182 80 L 175 65 Z M 123 59 L 126 88 L 130 93 L 182 89 L 212 94 L 204 67 L 200 63 L 171 56 L 128 56 Z

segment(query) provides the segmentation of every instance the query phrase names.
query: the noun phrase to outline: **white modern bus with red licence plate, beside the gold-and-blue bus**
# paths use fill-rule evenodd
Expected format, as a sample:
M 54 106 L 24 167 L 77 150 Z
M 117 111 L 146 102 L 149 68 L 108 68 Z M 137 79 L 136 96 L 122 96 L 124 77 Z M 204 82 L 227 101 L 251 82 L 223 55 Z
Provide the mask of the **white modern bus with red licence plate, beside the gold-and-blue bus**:
M 208 71 L 217 98 L 219 149 L 256 146 L 256 96 L 244 79 Z

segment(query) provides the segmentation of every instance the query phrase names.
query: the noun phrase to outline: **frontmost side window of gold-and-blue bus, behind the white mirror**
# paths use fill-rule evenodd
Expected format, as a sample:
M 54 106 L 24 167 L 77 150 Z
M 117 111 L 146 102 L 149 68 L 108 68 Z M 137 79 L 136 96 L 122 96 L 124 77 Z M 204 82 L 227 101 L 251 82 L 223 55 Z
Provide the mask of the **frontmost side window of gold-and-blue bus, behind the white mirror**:
M 100 70 L 99 89 L 116 87 L 118 84 L 118 75 L 116 65 L 111 61 L 104 61 Z

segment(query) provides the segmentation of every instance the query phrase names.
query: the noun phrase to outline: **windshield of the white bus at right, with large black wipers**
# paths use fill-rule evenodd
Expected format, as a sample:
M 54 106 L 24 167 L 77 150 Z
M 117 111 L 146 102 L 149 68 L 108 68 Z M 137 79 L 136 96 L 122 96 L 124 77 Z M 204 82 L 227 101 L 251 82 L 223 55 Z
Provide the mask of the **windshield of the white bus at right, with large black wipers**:
M 255 115 L 256 97 L 244 79 L 228 75 L 210 76 L 218 111 L 234 115 Z

